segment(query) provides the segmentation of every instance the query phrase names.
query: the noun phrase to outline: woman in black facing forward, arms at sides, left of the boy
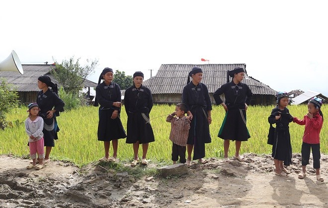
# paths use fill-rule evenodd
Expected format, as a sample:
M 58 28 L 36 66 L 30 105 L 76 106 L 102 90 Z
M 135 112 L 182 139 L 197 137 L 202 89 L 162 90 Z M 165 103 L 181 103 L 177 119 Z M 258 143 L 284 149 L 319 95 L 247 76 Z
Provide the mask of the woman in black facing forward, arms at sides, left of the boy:
M 150 89 L 143 86 L 144 74 L 137 71 L 133 74 L 133 86 L 124 94 L 124 105 L 127 122 L 127 144 L 133 144 L 134 159 L 131 166 L 139 162 L 139 144 L 142 144 L 142 164 L 147 164 L 148 144 L 154 142 L 154 132 L 150 124 L 149 113 L 153 107 L 153 97 Z

